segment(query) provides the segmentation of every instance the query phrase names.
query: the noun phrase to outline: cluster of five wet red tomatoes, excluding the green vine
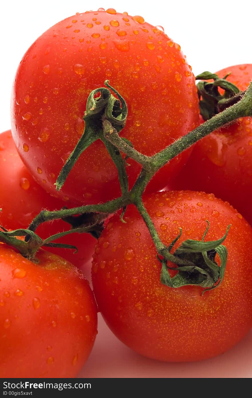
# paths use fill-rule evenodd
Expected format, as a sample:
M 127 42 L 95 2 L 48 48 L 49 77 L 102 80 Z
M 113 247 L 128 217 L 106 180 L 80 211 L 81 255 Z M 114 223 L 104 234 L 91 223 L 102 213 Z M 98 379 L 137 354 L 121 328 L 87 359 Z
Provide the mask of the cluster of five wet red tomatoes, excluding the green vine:
M 252 65 L 218 75 L 245 90 Z M 59 192 L 55 186 L 83 134 L 87 98 L 107 79 L 128 106 L 120 137 L 142 154 L 160 152 L 203 123 L 192 68 L 162 27 L 112 8 L 57 23 L 17 69 L 12 131 L 0 135 L 2 186 L 8 187 L 0 191 L 0 234 L 27 228 L 41 209 L 120 197 L 118 170 L 101 140 L 81 153 Z M 123 220 L 115 213 L 104 222 L 96 244 L 90 234 L 60 238 L 77 246 L 77 254 L 45 247 L 29 259 L 1 243 L 0 376 L 78 375 L 95 341 L 97 305 L 122 342 L 153 359 L 206 359 L 240 341 L 252 326 L 251 136 L 249 117 L 211 133 L 167 162 L 143 196 L 153 228 L 163 245 L 174 243 L 174 255 L 182 242 L 216 241 L 230 226 L 224 278 L 209 291 L 200 284 L 161 283 L 163 259 L 133 204 Z M 124 163 L 131 189 L 141 166 L 128 157 Z M 46 239 L 69 228 L 60 219 L 39 225 L 36 233 Z M 204 266 L 221 268 L 220 252 L 216 259 L 213 249 L 202 253 Z M 92 254 L 94 294 L 79 270 L 88 272 Z M 171 261 L 167 270 L 177 275 Z

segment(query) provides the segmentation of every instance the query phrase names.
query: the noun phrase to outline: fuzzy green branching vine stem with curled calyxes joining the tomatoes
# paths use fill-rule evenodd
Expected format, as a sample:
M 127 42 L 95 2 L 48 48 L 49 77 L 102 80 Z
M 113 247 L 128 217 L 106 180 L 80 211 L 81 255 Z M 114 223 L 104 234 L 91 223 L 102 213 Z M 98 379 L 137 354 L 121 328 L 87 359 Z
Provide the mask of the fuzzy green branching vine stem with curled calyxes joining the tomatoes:
M 162 257 L 159 258 L 162 262 L 162 283 L 169 287 L 180 287 L 188 284 L 199 285 L 205 290 L 217 287 L 224 276 L 227 249 L 222 245 L 222 242 L 227 236 L 229 227 L 227 228 L 226 234 L 219 240 L 205 242 L 205 234 L 209 228 L 209 224 L 207 224 L 207 229 L 201 241 L 186 240 L 182 242 L 178 249 L 172 254 L 171 250 L 176 240 L 180 238 L 181 230 L 177 238 L 171 242 L 170 246 L 165 246 L 161 242 L 157 230 L 142 201 L 142 194 L 150 179 L 167 162 L 212 131 L 240 117 L 252 116 L 252 82 L 246 92 L 241 93 L 237 92 L 237 88 L 234 85 L 228 84 L 225 80 L 227 76 L 223 79 L 219 79 L 217 75 L 210 74 L 209 72 L 204 72 L 204 74 L 200 76 L 202 76 L 202 78 L 213 78 L 214 82 L 211 83 L 212 86 L 209 86 L 210 83 L 206 83 L 207 86 L 204 86 L 205 83 L 203 83 L 201 85 L 201 90 L 202 92 L 206 90 L 207 94 L 204 94 L 206 96 L 209 92 L 214 95 L 216 94 L 217 100 L 222 103 L 225 109 L 221 112 L 218 111 L 219 113 L 215 114 L 211 119 L 208 119 L 205 123 L 196 127 L 196 129 L 153 156 L 141 154 L 133 148 L 130 141 L 120 137 L 119 133 L 126 123 L 127 105 L 120 94 L 109 85 L 109 82 L 105 82 L 107 88 L 98 88 L 91 92 L 87 100 L 87 109 L 83 117 L 83 119 L 85 119 L 85 130 L 76 148 L 60 172 L 56 181 L 56 189 L 59 190 L 62 187 L 83 150 L 95 140 L 100 139 L 105 144 L 117 167 L 122 196 L 108 201 L 107 203 L 84 205 L 74 209 L 63 208 L 58 211 L 43 210 L 33 219 L 27 230 L 16 230 L 10 233 L 2 228 L 2 231 L 0 231 L 0 241 L 16 247 L 23 256 L 33 258 L 39 247 L 43 245 L 58 245 L 58 247 L 61 247 L 60 244 L 52 241 L 62 236 L 62 234 L 91 232 L 95 230 L 95 225 L 97 223 L 99 224 L 100 220 L 99 228 L 95 231 L 95 233 L 99 235 L 99 231 L 102 229 L 101 223 L 103 219 L 119 209 L 122 209 L 121 220 L 124 222 L 123 215 L 126 207 L 133 204 L 138 209 L 143 221 L 149 229 L 151 238 L 157 249 L 157 254 Z M 216 91 L 217 86 L 225 90 L 226 94 L 224 96 L 218 94 Z M 116 97 L 110 93 L 109 89 Z M 100 96 L 97 97 L 98 93 Z M 217 101 L 216 98 L 215 102 Z M 125 168 L 127 158 L 132 158 L 142 165 L 142 170 L 130 191 L 128 189 L 128 176 Z M 78 217 L 73 217 L 76 215 Z M 43 222 L 56 219 L 63 219 L 70 223 L 72 229 L 42 241 L 35 233 L 37 227 Z M 90 220 L 96 221 L 92 224 Z M 15 236 L 25 236 L 25 241 L 16 239 Z M 15 243 L 15 239 L 18 242 Z M 220 266 L 215 262 L 216 254 L 218 254 L 221 260 Z M 173 263 L 175 265 L 173 269 L 178 271 L 173 278 L 169 275 L 167 261 Z

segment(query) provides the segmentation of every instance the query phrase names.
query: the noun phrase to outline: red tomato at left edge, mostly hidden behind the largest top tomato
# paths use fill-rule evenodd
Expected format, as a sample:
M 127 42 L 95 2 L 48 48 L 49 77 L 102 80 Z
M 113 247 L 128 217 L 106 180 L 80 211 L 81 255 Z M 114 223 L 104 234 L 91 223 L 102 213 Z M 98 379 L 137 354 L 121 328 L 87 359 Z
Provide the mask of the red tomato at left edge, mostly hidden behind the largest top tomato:
M 55 210 L 66 205 L 44 191 L 27 171 L 17 153 L 11 131 L 0 135 L 0 224 L 8 229 L 27 228 L 41 209 Z M 70 203 L 67 204 L 68 206 Z M 70 205 L 74 207 L 74 205 Z M 70 229 L 62 220 L 44 223 L 37 229 L 38 235 L 48 236 Z M 68 243 L 78 247 L 78 252 L 64 248 L 45 248 L 59 254 L 78 267 L 82 267 L 92 256 L 95 238 L 90 234 L 70 234 L 56 242 Z

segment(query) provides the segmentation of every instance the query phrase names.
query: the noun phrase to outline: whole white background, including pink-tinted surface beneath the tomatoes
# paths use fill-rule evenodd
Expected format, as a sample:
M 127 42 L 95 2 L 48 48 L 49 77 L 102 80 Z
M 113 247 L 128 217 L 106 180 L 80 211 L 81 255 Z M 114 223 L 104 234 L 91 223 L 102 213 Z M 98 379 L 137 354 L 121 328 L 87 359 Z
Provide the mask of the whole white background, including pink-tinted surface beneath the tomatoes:
M 0 5 L 0 131 L 10 128 L 10 91 L 27 48 L 54 23 L 99 7 L 141 15 L 181 45 L 194 74 L 252 63 L 251 0 L 6 1 Z M 125 4 L 122 6 L 122 4 Z M 154 4 L 154 5 L 153 5 Z M 106 343 L 105 343 L 106 341 Z M 206 342 L 207 343 L 207 342 Z M 111 347 L 113 347 L 111 352 Z M 224 355 L 194 364 L 168 364 L 134 353 L 99 318 L 99 334 L 83 377 L 251 377 L 252 333 Z

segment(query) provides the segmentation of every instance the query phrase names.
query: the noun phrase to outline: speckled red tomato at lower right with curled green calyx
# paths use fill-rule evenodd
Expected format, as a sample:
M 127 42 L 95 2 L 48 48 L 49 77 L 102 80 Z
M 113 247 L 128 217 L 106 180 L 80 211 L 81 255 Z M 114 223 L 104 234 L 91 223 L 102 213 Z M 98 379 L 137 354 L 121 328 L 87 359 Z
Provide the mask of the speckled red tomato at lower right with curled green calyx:
M 123 224 L 115 215 L 103 230 L 93 258 L 98 308 L 112 332 L 138 353 L 162 361 L 196 361 L 223 353 L 252 325 L 252 229 L 233 207 L 211 194 L 159 192 L 143 198 L 162 242 L 174 250 L 187 239 L 221 238 L 228 259 L 216 289 L 161 284 L 161 263 L 149 231 L 133 205 Z M 245 244 L 246 241 L 246 244 Z M 168 263 L 169 266 L 173 264 Z

